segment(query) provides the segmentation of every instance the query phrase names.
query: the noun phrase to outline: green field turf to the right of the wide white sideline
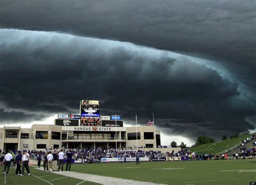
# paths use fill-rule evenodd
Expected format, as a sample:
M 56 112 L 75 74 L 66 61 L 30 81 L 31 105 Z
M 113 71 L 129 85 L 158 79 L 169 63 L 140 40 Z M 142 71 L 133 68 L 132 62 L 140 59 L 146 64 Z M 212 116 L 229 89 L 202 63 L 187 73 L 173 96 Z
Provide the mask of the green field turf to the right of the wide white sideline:
M 254 163 L 249 163 L 249 162 Z M 256 181 L 256 172 L 220 172 L 220 170 L 256 170 L 256 160 L 176 161 L 87 164 L 73 166 L 80 173 L 119 177 L 165 184 L 248 184 Z M 136 167 L 136 168 L 134 168 Z M 139 167 L 139 168 L 137 168 Z M 185 168 L 185 169 L 170 169 Z

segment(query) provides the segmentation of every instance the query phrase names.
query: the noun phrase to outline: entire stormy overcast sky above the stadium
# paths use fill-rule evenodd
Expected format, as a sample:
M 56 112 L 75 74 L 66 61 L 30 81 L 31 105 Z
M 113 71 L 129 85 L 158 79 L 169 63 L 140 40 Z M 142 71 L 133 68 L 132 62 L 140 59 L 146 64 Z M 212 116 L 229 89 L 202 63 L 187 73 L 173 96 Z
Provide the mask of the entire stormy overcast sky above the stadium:
M 155 116 L 194 141 L 253 130 L 255 1 L 1 1 L 0 124 Z M 164 143 L 170 143 L 164 141 Z

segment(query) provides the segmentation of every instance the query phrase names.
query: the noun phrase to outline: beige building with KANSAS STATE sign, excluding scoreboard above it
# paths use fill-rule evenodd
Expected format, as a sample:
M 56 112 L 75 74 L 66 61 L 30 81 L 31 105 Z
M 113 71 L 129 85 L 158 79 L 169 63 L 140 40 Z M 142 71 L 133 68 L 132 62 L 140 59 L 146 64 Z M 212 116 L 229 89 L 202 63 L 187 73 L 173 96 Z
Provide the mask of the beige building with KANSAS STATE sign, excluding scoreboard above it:
M 136 130 L 138 146 L 155 148 L 161 145 L 160 131 L 156 130 L 156 126 L 137 126 L 136 129 L 136 126 L 60 126 L 55 123 L 34 124 L 31 129 L 3 126 L 0 128 L 0 149 L 45 150 L 63 146 L 116 148 L 116 142 L 117 148 L 130 147 L 137 145 Z

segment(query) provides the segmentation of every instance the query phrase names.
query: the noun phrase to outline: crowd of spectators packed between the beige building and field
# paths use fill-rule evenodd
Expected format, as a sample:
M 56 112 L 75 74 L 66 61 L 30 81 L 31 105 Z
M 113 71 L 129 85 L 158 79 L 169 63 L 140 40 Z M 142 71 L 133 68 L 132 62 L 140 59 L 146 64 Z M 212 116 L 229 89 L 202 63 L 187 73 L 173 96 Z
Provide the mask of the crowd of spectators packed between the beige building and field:
M 250 148 L 245 147 L 245 144 L 249 143 L 250 141 L 255 139 L 255 134 L 253 134 L 250 138 L 246 138 L 245 140 L 241 141 L 241 147 L 240 147 L 240 153 L 233 153 L 233 159 L 245 159 L 249 156 L 252 156 L 252 158 L 255 158 L 256 156 L 256 147 L 255 143 L 253 141 L 253 146 Z M 168 148 L 168 146 L 159 146 L 158 148 Z M 225 156 L 227 154 L 221 154 L 221 155 L 214 155 L 214 154 L 204 154 L 199 155 L 196 152 L 189 151 L 188 149 L 181 149 L 178 152 L 166 152 L 162 153 L 160 149 L 158 150 L 150 150 L 145 151 L 143 147 L 139 147 L 138 150 L 134 150 L 136 148 L 122 148 L 121 150 L 117 150 L 116 148 L 104 148 L 104 147 L 87 147 L 87 148 L 63 148 L 64 153 L 67 152 L 69 149 L 72 149 L 72 152 L 75 154 L 73 156 L 73 159 L 80 159 L 82 162 L 93 162 L 93 160 L 97 159 L 100 160 L 101 158 L 133 158 L 138 154 L 140 157 L 148 157 L 148 158 L 159 158 L 159 157 L 183 157 L 188 160 L 218 160 L 218 159 L 227 159 L 228 156 Z M 37 159 L 42 158 L 44 160 L 45 156 L 47 156 L 48 151 L 52 151 L 53 155 L 56 153 L 58 154 L 59 150 L 55 148 L 55 150 L 52 150 L 52 148 L 46 148 L 45 151 L 37 151 L 37 150 L 28 150 L 28 153 L 30 155 L 31 159 Z M 0 151 L 0 165 L 2 164 L 5 152 L 3 151 L 1 155 Z M 14 156 L 16 151 L 12 150 L 11 154 Z M 55 155 L 54 155 L 55 156 Z M 53 160 L 58 160 L 57 156 Z M 231 156 L 232 157 L 232 156 Z

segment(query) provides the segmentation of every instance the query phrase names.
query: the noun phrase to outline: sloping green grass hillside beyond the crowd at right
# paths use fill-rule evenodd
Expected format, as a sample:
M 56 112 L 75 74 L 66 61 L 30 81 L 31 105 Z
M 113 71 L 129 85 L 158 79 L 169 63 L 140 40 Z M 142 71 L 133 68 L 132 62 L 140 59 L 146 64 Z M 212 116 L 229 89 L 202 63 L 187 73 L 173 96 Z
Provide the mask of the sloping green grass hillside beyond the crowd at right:
M 205 145 L 200 145 L 196 147 L 190 148 L 190 151 L 197 152 L 197 154 L 217 154 L 228 148 L 239 144 L 242 140 L 247 137 L 251 137 L 251 134 L 247 134 L 245 136 L 241 136 L 238 138 L 227 139 L 225 141 L 219 141 L 216 143 L 209 143 Z

